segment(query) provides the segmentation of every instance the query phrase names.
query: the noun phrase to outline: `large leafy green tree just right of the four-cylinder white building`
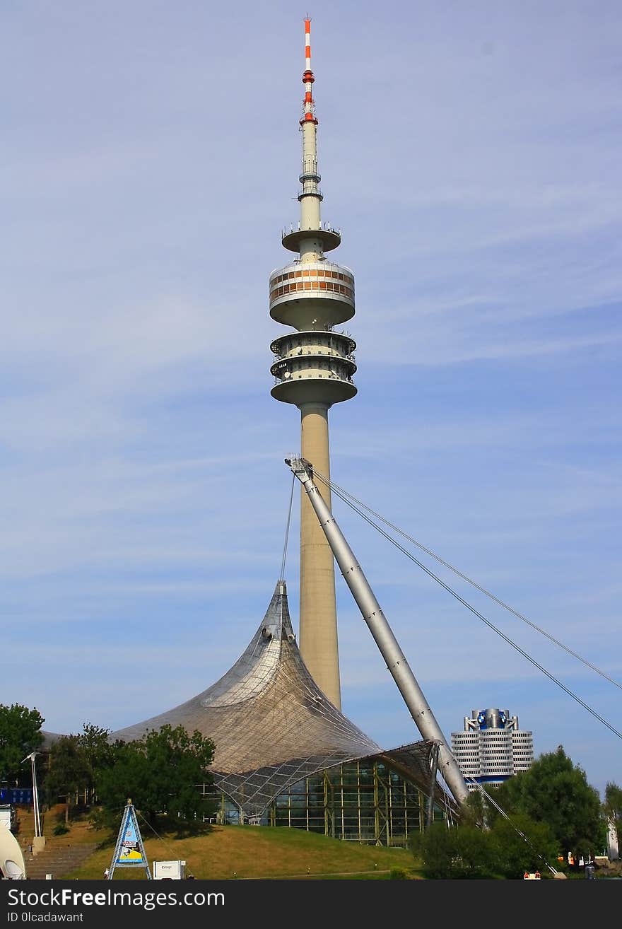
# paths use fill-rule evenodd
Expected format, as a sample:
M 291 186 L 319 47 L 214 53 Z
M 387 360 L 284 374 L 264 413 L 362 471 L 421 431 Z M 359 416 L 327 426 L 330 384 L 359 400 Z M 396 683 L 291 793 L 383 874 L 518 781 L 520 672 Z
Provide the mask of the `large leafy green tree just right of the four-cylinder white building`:
M 573 852 L 586 856 L 603 847 L 600 795 L 561 745 L 555 752 L 540 755 L 526 771 L 504 781 L 493 796 L 510 817 L 512 813 L 525 813 L 536 822 L 547 823 L 564 855 Z M 498 815 L 491 809 L 491 822 Z

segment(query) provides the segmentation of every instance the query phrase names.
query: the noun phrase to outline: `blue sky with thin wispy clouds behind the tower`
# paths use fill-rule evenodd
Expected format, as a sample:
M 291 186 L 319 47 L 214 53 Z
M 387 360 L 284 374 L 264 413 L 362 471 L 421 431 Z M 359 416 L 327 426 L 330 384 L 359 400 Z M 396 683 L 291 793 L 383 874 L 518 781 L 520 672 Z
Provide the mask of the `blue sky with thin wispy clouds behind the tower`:
M 118 728 L 237 659 L 279 577 L 306 8 L 0 13 L 0 701 Z M 323 219 L 356 274 L 332 478 L 622 680 L 619 4 L 318 0 Z M 603 792 L 620 739 L 343 504 L 447 738 L 517 713 Z M 286 580 L 298 615 L 298 506 Z M 429 562 L 434 568 L 434 563 Z M 443 575 L 617 729 L 619 689 Z M 419 738 L 338 576 L 343 711 Z

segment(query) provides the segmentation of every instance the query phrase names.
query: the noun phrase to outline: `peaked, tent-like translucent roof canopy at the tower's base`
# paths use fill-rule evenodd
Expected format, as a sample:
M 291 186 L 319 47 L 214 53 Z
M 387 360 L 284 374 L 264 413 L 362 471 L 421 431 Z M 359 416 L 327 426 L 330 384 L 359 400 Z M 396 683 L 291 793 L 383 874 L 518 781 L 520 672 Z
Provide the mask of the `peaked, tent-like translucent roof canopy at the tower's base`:
M 140 739 L 161 726 L 184 726 L 214 740 L 212 773 L 244 818 L 262 817 L 294 785 L 348 762 L 391 767 L 426 795 L 434 741 L 382 751 L 317 687 L 292 629 L 284 581 L 248 647 L 212 687 L 167 713 L 111 733 Z M 455 808 L 439 783 L 440 805 Z

